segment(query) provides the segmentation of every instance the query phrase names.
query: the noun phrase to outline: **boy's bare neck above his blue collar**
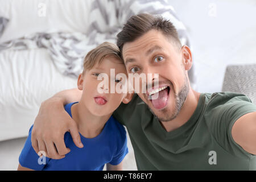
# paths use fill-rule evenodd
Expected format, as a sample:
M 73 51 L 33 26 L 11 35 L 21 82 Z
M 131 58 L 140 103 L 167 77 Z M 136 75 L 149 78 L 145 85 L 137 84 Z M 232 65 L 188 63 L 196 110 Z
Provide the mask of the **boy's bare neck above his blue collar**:
M 79 132 L 86 138 L 97 137 L 111 116 L 111 114 L 104 116 L 93 115 L 82 101 L 71 107 L 71 113 L 72 118 L 77 123 Z

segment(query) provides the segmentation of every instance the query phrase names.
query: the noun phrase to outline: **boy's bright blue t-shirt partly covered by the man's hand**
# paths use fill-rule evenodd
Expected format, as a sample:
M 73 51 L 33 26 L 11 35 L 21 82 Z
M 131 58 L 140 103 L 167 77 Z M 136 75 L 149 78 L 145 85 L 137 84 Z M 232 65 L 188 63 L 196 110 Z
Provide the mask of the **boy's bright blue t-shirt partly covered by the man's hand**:
M 65 105 L 65 110 L 72 117 L 71 106 L 77 102 Z M 65 133 L 64 141 L 71 151 L 63 159 L 39 158 L 31 144 L 31 130 L 19 156 L 23 167 L 35 170 L 102 170 L 106 163 L 117 165 L 128 153 L 125 128 L 110 117 L 101 133 L 94 138 L 85 138 L 80 134 L 83 148 L 76 147 L 69 132 Z

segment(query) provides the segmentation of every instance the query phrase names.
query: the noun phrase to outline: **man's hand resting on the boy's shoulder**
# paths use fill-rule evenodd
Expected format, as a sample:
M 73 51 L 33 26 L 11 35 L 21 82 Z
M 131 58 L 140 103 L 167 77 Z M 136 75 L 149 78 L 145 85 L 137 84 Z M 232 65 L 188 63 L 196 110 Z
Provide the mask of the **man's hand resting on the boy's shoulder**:
M 64 158 L 70 151 L 64 143 L 64 134 L 67 131 L 71 133 L 76 146 L 83 147 L 76 122 L 63 105 L 64 101 L 59 97 L 49 98 L 41 104 L 31 131 L 32 147 L 37 154 L 45 151 L 48 158 Z

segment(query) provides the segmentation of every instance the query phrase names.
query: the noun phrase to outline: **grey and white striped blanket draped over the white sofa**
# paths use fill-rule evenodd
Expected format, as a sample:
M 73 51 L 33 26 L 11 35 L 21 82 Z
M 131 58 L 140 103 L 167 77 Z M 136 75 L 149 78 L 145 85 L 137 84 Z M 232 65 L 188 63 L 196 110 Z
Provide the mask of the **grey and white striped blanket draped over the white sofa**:
M 164 0 L 95 0 L 90 9 L 90 23 L 86 34 L 81 32 L 37 32 L 0 44 L 0 51 L 46 48 L 56 68 L 67 76 L 77 77 L 82 71 L 86 53 L 102 42 L 116 42 L 116 35 L 130 16 L 139 13 L 160 14 L 177 28 L 182 44 L 189 44 L 187 32 L 172 6 Z M 189 71 L 191 84 L 193 68 Z

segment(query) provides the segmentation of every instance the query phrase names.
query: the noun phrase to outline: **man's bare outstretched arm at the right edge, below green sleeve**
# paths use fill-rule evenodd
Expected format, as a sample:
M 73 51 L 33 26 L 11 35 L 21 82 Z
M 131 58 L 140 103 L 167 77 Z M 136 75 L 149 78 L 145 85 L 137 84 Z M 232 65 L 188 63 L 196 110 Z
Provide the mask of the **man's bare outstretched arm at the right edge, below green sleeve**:
M 243 150 L 256 155 L 256 112 L 237 119 L 232 127 L 232 137 Z

